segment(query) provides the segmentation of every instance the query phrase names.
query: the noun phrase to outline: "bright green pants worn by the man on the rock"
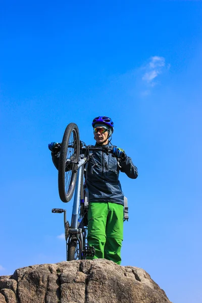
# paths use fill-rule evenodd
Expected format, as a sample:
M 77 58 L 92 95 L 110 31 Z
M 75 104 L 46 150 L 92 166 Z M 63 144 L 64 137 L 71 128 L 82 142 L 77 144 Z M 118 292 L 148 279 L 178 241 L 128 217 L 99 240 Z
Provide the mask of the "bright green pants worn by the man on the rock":
M 123 205 L 111 202 L 91 202 L 88 209 L 88 244 L 95 256 L 87 259 L 107 259 L 121 264 L 123 241 Z

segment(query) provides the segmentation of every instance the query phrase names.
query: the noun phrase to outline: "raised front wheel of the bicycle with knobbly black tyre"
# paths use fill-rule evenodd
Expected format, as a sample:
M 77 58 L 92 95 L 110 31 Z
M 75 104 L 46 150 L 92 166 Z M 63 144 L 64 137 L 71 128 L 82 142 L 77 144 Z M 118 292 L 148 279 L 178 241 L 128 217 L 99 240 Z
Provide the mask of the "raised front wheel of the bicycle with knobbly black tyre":
M 72 142 L 73 141 L 73 142 Z M 67 159 L 71 161 L 73 166 L 79 160 L 79 130 L 75 123 L 70 123 L 65 129 L 58 168 L 58 189 L 59 195 L 63 202 L 69 202 L 74 193 L 76 185 L 77 172 L 73 172 L 72 168 L 68 171 Z M 73 147 L 72 147 L 73 146 Z M 69 158 L 68 158 L 69 157 Z

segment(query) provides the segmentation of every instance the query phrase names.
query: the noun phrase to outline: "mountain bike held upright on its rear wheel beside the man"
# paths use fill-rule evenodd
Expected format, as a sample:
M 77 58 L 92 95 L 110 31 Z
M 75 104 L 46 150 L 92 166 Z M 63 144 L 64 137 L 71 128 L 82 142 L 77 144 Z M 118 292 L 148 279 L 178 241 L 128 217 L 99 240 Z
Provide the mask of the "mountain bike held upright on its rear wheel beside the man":
M 78 126 L 70 123 L 65 129 L 62 143 L 58 143 L 60 158 L 58 167 L 58 189 L 61 200 L 67 203 L 74 193 L 71 224 L 66 220 L 66 210 L 53 209 L 52 213 L 64 213 L 67 261 L 83 260 L 93 257 L 94 247 L 87 243 L 87 210 L 88 191 L 83 184 L 84 165 L 91 156 L 92 150 L 103 150 L 112 153 L 110 147 L 86 145 L 79 139 Z M 81 154 L 80 151 L 85 151 Z M 128 220 L 127 198 L 124 197 L 124 218 Z

